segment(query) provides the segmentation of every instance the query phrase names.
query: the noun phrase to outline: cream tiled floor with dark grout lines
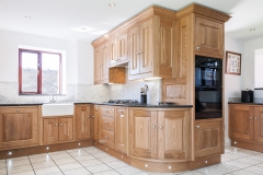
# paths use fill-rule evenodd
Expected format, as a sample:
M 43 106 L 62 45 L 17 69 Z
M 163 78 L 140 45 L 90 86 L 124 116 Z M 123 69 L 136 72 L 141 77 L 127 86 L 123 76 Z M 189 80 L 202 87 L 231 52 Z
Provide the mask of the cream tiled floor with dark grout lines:
M 172 175 L 149 173 L 89 147 L 14 159 L 0 160 L 0 175 Z M 226 148 L 222 163 L 174 175 L 263 175 L 263 153 L 238 148 Z

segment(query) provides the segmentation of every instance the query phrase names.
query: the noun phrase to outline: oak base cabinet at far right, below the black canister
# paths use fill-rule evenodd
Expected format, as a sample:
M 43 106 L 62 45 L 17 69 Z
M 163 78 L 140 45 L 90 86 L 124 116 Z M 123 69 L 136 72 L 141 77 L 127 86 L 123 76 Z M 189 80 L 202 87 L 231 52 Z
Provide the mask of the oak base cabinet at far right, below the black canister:
M 263 106 L 229 105 L 229 138 L 236 147 L 261 151 L 263 149 Z

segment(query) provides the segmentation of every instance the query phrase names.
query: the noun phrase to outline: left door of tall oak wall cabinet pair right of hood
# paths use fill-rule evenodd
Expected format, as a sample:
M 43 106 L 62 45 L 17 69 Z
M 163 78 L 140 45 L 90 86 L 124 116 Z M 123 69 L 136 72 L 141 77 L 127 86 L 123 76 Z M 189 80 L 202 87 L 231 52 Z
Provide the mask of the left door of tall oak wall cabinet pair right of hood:
M 129 74 L 139 74 L 139 25 L 129 30 Z

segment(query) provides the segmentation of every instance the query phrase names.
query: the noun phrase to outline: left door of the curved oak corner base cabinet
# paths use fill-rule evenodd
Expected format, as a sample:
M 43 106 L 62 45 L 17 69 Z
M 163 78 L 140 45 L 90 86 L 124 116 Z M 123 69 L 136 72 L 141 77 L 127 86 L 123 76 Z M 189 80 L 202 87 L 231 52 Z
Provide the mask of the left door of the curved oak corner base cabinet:
M 157 112 L 129 109 L 129 154 L 157 158 Z

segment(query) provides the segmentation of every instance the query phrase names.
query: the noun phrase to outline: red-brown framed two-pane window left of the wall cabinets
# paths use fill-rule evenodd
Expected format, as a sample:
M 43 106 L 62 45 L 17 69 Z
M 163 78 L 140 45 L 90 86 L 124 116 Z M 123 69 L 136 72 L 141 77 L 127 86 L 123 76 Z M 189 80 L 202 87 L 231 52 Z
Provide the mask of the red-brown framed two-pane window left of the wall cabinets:
M 20 94 L 61 94 L 61 54 L 19 49 Z

